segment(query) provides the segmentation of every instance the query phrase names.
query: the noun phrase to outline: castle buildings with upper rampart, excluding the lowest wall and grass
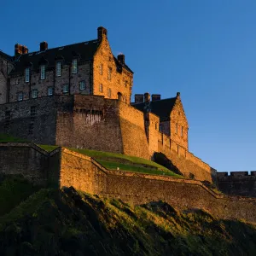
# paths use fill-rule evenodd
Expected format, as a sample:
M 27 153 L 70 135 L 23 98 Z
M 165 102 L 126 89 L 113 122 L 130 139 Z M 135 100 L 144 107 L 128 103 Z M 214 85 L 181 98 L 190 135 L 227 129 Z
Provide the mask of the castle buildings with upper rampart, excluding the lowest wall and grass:
M 0 133 L 38 144 L 90 148 L 152 159 L 166 154 L 186 177 L 216 171 L 189 152 L 189 125 L 180 94 L 148 93 L 131 102 L 133 72 L 113 56 L 108 32 L 91 41 L 36 52 L 15 44 L 0 51 Z

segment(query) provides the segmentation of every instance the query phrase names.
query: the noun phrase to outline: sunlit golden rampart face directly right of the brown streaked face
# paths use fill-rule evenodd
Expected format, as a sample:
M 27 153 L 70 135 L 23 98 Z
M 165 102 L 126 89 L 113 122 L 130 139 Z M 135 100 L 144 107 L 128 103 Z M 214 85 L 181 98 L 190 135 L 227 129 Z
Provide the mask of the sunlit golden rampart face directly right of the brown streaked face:
M 143 112 L 124 102 L 119 102 L 119 122 L 123 153 L 149 159 Z

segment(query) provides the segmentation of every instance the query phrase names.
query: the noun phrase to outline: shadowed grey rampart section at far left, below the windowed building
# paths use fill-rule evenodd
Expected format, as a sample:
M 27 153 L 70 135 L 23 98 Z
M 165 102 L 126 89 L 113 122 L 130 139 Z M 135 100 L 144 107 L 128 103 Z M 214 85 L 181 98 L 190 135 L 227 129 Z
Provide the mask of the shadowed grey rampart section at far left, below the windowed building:
M 0 105 L 0 133 L 55 144 L 55 96 Z

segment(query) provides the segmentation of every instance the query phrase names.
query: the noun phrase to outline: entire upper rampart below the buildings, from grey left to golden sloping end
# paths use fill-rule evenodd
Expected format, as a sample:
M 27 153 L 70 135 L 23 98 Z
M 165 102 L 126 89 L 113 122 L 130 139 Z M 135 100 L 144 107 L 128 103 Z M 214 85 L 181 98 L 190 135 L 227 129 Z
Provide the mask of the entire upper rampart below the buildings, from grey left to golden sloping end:
M 0 105 L 0 133 L 145 159 L 161 152 L 185 177 L 215 182 L 215 170 L 161 133 L 159 125 L 154 113 L 104 96 L 48 96 Z

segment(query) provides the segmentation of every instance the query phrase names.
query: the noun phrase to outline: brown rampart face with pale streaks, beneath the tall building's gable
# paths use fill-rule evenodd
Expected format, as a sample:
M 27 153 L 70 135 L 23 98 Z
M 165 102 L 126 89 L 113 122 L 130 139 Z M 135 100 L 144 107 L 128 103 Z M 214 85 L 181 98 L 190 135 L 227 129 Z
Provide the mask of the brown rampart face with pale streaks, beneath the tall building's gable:
M 70 108 L 58 112 L 56 144 L 122 153 L 118 100 L 79 95 L 70 98 Z

